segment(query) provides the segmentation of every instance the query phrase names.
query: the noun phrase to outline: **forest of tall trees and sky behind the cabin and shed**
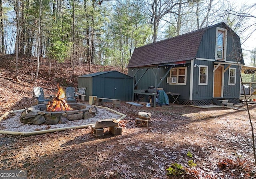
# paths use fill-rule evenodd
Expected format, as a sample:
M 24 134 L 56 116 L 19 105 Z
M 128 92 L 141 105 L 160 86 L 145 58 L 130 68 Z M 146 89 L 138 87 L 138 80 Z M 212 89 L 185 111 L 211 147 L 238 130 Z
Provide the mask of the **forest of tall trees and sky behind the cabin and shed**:
M 84 63 L 89 71 L 91 64 L 124 71 L 134 48 L 218 22 L 246 41 L 255 7 L 229 0 L 0 0 L 0 53 L 16 54 L 16 64 L 18 56 L 27 59 L 34 79 L 43 58 L 49 76 L 64 62 L 73 72 Z

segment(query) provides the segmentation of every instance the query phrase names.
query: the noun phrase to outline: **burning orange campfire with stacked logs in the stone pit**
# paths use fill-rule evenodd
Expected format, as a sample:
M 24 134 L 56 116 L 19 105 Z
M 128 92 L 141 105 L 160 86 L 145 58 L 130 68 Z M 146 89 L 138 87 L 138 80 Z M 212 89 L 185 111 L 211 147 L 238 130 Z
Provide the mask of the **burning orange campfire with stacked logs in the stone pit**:
M 54 112 L 54 111 L 71 111 L 73 110 L 65 101 L 65 91 L 62 87 L 58 86 L 58 93 L 54 97 L 52 101 L 48 102 L 46 111 Z

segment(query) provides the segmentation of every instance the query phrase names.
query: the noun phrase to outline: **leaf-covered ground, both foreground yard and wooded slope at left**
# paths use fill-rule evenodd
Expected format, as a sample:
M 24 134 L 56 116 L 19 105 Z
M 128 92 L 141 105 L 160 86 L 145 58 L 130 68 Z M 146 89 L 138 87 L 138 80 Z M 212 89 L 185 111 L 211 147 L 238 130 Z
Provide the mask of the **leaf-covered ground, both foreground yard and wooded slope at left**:
M 0 115 L 32 105 L 34 86 L 42 86 L 45 93 L 56 92 L 57 83 L 77 88 L 77 77 L 88 73 L 88 65 L 72 74 L 63 65 L 52 70 L 49 78 L 48 67 L 42 64 L 33 83 L 32 67 L 24 61 L 19 64 L 17 82 L 13 58 L 1 56 L 0 60 Z M 110 103 L 104 106 L 112 108 Z M 152 116 L 148 127 L 135 125 L 136 116 L 126 113 L 124 102 L 115 110 L 127 115 L 120 121 L 122 135 L 105 129 L 104 136 L 96 138 L 90 127 L 29 137 L 0 134 L 0 170 L 24 169 L 30 179 L 255 178 L 246 110 L 143 107 L 141 111 Z M 254 104 L 250 113 L 255 125 Z

